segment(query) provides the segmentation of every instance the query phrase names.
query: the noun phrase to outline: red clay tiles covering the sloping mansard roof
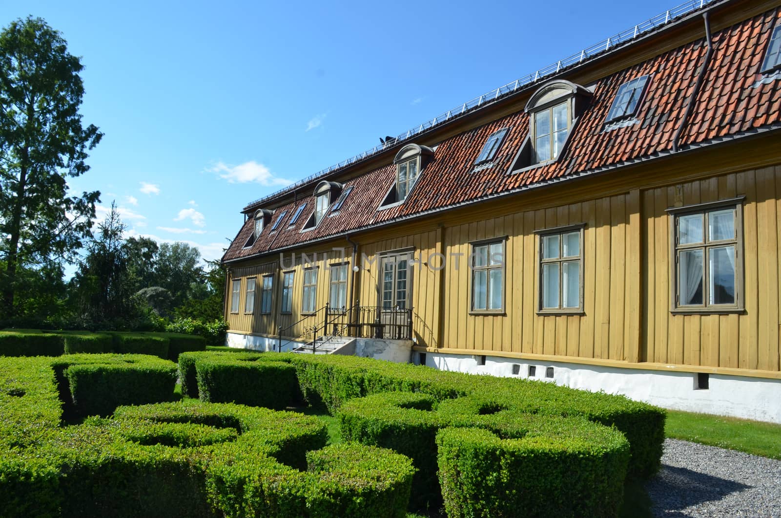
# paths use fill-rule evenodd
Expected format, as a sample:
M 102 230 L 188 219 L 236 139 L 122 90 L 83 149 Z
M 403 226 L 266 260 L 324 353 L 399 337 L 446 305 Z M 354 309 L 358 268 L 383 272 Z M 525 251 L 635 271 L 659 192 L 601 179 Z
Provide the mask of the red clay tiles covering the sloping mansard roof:
M 761 81 L 765 76 L 760 70 L 775 23 L 781 23 L 781 9 L 773 9 L 712 34 L 711 60 L 690 118 L 680 135 L 681 148 L 707 144 L 715 138 L 740 135 L 781 121 L 781 79 Z M 333 216 L 327 215 L 317 228 L 300 232 L 314 210 L 312 195 L 276 208 L 275 214 L 287 210 L 286 219 L 289 220 L 295 207 L 307 203 L 295 225 L 288 226 L 284 221 L 276 232 L 270 232 L 269 225 L 253 246 L 243 248 L 253 229 L 252 220 L 248 220 L 223 261 L 266 254 L 485 196 L 532 187 L 547 180 L 600 171 L 669 152 L 694 91 L 706 50 L 705 40 L 701 38 L 598 80 L 592 85 L 593 96 L 585 111 L 572 128 L 566 149 L 555 163 L 507 174 L 529 131 L 526 113 L 513 113 L 440 142 L 433 160 L 420 174 L 405 203 L 377 210 L 394 182 L 396 168 L 386 164 L 344 182 L 345 188 L 349 185 L 355 188 L 341 210 Z M 637 122 L 605 128 L 604 120 L 619 87 L 644 74 L 651 77 L 635 115 Z M 492 160 L 493 167 L 472 172 L 476 156 L 488 136 L 505 127 L 509 131 Z

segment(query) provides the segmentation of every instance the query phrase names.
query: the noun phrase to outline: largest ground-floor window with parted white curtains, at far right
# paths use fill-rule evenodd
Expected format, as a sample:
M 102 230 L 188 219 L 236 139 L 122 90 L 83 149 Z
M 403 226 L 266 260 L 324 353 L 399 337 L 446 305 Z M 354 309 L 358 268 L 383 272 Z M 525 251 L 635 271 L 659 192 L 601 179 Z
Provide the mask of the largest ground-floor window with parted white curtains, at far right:
M 669 210 L 672 221 L 672 311 L 743 308 L 742 199 Z

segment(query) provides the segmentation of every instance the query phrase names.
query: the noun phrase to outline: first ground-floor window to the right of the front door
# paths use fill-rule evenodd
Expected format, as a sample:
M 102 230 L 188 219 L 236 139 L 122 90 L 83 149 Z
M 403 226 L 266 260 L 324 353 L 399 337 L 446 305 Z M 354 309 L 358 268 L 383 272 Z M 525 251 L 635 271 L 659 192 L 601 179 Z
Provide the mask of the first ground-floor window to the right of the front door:
M 505 238 L 472 244 L 473 313 L 505 309 Z

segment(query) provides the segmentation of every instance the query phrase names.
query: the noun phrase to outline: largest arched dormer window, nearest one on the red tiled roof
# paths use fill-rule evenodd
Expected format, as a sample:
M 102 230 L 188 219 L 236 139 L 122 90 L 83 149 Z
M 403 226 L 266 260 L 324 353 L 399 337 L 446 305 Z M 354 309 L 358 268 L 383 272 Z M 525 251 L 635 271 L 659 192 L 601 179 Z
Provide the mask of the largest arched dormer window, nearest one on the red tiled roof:
M 508 172 L 558 160 L 590 96 L 586 88 L 563 80 L 550 81 L 538 88 L 526 103 L 529 136 Z

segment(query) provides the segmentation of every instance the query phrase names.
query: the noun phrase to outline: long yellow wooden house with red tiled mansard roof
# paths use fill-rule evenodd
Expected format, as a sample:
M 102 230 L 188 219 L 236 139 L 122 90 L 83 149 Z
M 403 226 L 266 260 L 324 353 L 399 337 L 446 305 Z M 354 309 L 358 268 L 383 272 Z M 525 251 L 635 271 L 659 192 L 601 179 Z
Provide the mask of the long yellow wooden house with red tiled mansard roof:
M 228 344 L 781 423 L 781 8 L 689 2 L 249 203 Z

